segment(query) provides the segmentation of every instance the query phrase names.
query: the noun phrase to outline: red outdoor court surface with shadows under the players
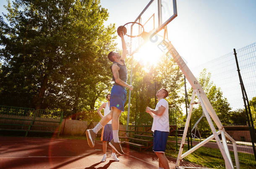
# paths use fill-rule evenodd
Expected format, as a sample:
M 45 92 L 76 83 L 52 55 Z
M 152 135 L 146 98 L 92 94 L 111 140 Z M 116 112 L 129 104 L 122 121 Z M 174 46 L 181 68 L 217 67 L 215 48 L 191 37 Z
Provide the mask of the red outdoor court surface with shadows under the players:
M 108 146 L 107 161 L 101 163 L 101 141 L 95 144 L 91 149 L 84 140 L 0 137 L 0 169 L 158 169 L 153 152 L 139 153 L 125 146 L 119 162 L 110 160 Z M 174 169 L 176 159 L 168 160 Z M 196 165 L 184 162 L 182 166 Z

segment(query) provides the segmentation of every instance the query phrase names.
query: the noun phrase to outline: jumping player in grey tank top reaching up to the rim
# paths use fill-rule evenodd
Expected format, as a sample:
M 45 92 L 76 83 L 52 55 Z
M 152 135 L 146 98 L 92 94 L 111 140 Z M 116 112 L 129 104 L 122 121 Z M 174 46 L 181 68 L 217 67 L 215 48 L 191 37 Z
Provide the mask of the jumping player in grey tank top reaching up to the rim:
M 124 111 L 124 103 L 126 101 L 126 89 L 133 90 L 133 86 L 128 85 L 127 82 L 127 68 L 125 65 L 125 58 L 127 54 L 127 48 L 125 40 L 123 38 L 123 32 L 118 33 L 122 40 L 123 53 L 120 56 L 118 53 L 110 52 L 107 57 L 113 62 L 110 69 L 112 71 L 112 80 L 115 81 L 114 86 L 111 90 L 110 95 L 110 108 L 111 112 L 104 116 L 101 121 L 94 127 L 94 129 L 86 130 L 86 137 L 88 144 L 91 148 L 95 146 L 94 140 L 97 132 L 107 124 L 112 119 L 112 129 L 113 129 L 113 139 L 110 141 L 109 145 L 121 156 L 124 155 L 122 147 L 118 138 L 118 128 L 119 128 L 119 117 L 121 112 Z

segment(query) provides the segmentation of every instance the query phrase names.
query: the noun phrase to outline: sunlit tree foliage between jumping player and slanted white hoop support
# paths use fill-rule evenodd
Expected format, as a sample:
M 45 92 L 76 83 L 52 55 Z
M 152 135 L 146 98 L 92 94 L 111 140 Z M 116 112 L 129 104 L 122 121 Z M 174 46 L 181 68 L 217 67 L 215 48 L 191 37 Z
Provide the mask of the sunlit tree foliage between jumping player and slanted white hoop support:
M 131 72 L 131 62 L 131 58 L 126 61 L 128 72 Z M 130 83 L 129 80 L 130 78 L 128 78 L 128 83 Z M 155 108 L 155 94 L 160 88 L 166 88 L 169 91 L 167 97 L 169 108 L 176 108 L 178 115 L 182 116 L 180 91 L 184 84 L 183 80 L 183 74 L 177 64 L 167 55 L 162 55 L 155 66 L 144 66 L 133 60 L 132 84 L 134 89 L 131 91 L 130 123 L 136 120 L 136 112 L 145 112 L 146 106 Z M 125 110 L 128 109 L 128 93 Z M 127 111 L 122 113 L 120 121 L 127 124 Z

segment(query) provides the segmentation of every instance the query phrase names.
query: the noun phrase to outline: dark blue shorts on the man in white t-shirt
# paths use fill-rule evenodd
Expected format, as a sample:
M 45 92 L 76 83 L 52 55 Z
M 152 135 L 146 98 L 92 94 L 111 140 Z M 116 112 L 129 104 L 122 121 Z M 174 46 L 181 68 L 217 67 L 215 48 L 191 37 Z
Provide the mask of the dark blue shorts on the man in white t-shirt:
M 169 132 L 167 131 L 154 131 L 153 151 L 158 153 L 165 153 Z

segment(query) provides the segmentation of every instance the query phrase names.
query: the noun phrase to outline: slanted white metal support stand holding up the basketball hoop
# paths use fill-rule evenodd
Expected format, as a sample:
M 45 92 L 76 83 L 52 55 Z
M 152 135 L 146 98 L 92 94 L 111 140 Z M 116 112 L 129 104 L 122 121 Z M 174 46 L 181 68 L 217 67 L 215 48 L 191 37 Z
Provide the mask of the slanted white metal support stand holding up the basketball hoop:
M 192 95 L 192 98 L 191 98 L 188 117 L 187 117 L 187 120 L 186 120 L 184 132 L 183 132 L 183 138 L 182 138 L 182 141 L 181 141 L 181 144 L 180 144 L 180 150 L 179 150 L 178 158 L 177 158 L 177 161 L 176 161 L 176 166 L 175 166 L 176 169 L 183 169 L 184 167 L 180 166 L 180 161 L 185 156 L 188 156 L 193 151 L 195 151 L 196 149 L 199 149 L 201 146 L 203 146 L 204 144 L 209 142 L 211 139 L 216 140 L 217 145 L 219 146 L 219 150 L 221 151 L 221 154 L 222 154 L 222 156 L 225 160 L 226 169 L 235 169 L 234 165 L 232 163 L 232 159 L 231 159 L 229 150 L 227 148 L 227 141 L 226 141 L 225 136 L 227 136 L 230 139 L 230 141 L 232 141 L 232 143 L 233 143 L 236 169 L 240 169 L 239 160 L 238 160 L 238 152 L 237 152 L 237 149 L 236 149 L 235 140 L 232 139 L 231 136 L 229 136 L 225 132 L 225 129 L 222 126 L 222 123 L 219 120 L 219 117 L 215 113 L 215 111 L 212 107 L 212 104 L 210 103 L 209 99 L 207 98 L 206 94 L 204 93 L 203 88 L 201 87 L 199 82 L 196 80 L 195 76 L 193 76 L 193 73 L 190 71 L 190 69 L 188 68 L 186 63 L 183 61 L 183 59 L 181 58 L 181 56 L 179 55 L 177 50 L 174 48 L 172 43 L 167 42 L 166 40 L 162 41 L 162 43 L 163 43 L 163 45 L 166 46 L 167 53 L 172 55 L 174 61 L 178 64 L 180 70 L 183 72 L 183 74 L 187 78 L 188 82 L 191 84 L 191 87 L 193 88 L 193 95 Z M 194 102 L 194 99 L 195 99 L 196 96 L 198 97 L 199 102 L 201 103 L 201 107 L 204 111 L 204 115 L 206 116 L 206 119 L 209 123 L 209 126 L 211 127 L 213 135 L 209 136 L 207 139 L 205 139 L 201 143 L 194 146 L 192 149 L 190 149 L 190 150 L 186 151 L 184 154 L 182 154 L 183 147 L 185 146 L 185 137 L 186 137 L 186 134 L 187 134 L 187 131 L 188 131 L 189 121 L 191 119 L 191 114 L 192 114 L 192 109 L 193 109 L 193 104 L 194 104 L 193 102 Z M 212 123 L 211 118 L 214 121 L 214 123 L 217 125 L 218 131 L 216 131 L 216 129 L 215 129 L 213 123 Z M 220 141 L 220 139 L 219 139 L 219 134 L 221 134 L 221 136 L 222 136 L 222 141 Z

